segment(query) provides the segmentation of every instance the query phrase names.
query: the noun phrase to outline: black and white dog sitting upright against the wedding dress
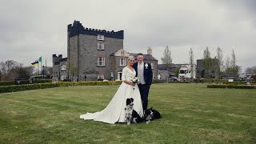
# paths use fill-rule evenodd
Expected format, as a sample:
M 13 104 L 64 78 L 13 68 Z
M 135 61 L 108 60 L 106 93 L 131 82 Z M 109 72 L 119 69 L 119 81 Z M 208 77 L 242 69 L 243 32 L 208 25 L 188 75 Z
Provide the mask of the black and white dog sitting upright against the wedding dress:
M 143 119 L 134 110 L 134 98 L 126 99 L 125 113 L 126 113 L 127 125 L 130 125 L 131 122 L 134 122 L 134 123 L 143 122 Z

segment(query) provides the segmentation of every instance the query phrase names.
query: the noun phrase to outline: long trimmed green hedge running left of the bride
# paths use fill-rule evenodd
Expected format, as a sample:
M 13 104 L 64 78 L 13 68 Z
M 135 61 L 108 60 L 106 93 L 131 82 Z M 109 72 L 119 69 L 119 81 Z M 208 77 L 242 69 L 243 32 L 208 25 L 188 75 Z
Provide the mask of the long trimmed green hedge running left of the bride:
M 35 83 L 28 85 L 0 86 L 0 93 L 10 93 L 23 90 L 38 90 L 62 86 L 108 86 L 119 85 L 122 81 L 91 81 L 91 82 L 56 82 L 56 83 Z

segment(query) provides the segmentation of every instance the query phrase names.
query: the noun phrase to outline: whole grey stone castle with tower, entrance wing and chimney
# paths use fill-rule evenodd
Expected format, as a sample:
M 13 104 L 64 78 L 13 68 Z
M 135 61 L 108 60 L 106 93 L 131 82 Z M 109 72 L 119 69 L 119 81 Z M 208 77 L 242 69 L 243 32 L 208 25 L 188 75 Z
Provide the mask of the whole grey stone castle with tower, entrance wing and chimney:
M 128 57 L 137 56 L 123 49 L 123 40 L 123 30 L 84 28 L 82 23 L 74 21 L 67 26 L 67 58 L 53 54 L 53 77 L 71 81 L 121 79 Z M 151 63 L 154 78 L 157 78 L 158 60 L 152 56 L 150 48 L 144 60 Z

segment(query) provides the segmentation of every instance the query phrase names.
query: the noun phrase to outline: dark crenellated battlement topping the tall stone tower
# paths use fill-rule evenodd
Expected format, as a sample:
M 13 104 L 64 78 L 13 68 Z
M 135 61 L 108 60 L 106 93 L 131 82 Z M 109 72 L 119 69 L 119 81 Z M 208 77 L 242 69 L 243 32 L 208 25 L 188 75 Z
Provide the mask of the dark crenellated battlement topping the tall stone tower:
M 69 37 L 73 37 L 74 35 L 78 35 L 78 34 L 89 34 L 89 35 L 95 35 L 95 36 L 97 36 L 98 34 L 102 34 L 104 35 L 104 37 L 108 37 L 108 38 L 118 38 L 118 39 L 124 38 L 123 30 L 114 32 L 114 30 L 107 31 L 107 30 L 85 28 L 84 26 L 82 26 L 82 23 L 80 23 L 79 21 L 74 21 L 73 25 L 72 24 L 68 25 L 67 32 L 69 34 Z

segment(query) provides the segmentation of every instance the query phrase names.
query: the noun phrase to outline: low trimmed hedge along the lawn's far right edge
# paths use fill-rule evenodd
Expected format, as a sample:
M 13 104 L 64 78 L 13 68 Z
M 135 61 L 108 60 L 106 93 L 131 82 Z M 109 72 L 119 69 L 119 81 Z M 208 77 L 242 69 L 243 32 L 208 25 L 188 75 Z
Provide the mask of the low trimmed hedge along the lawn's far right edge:
M 225 85 L 225 84 L 212 84 L 212 85 L 207 85 L 207 88 L 228 88 L 228 89 L 256 89 L 255 85 Z

